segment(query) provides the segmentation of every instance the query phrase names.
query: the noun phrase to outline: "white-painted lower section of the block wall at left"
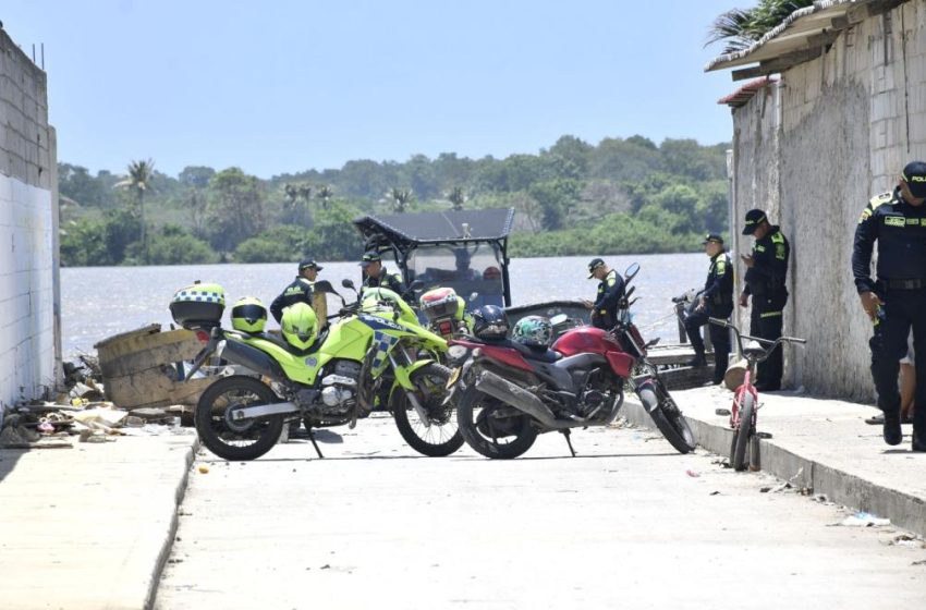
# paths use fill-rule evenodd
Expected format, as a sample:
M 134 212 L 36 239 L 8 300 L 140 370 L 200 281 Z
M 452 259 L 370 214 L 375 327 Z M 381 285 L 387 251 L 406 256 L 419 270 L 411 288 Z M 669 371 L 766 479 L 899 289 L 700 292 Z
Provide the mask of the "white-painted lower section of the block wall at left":
M 0 174 L 0 401 L 54 387 L 51 192 Z

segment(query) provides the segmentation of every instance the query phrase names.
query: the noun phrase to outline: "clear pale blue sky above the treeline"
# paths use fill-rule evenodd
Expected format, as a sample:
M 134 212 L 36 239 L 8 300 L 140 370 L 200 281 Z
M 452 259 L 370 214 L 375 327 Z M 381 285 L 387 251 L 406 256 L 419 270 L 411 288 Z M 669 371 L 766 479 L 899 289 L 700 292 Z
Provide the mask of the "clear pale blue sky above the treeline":
M 745 2 L 745 4 L 744 4 Z M 714 19 L 752 0 L 2 0 L 45 47 L 58 159 L 260 178 L 441 152 L 729 142 Z

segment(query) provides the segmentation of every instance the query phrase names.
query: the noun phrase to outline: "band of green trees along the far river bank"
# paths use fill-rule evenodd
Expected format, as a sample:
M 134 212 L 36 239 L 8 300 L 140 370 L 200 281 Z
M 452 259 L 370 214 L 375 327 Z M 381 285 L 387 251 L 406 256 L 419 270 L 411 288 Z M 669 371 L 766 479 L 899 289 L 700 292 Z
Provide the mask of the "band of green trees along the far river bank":
M 239 168 L 176 178 L 133 161 L 127 175 L 59 164 L 68 266 L 349 260 L 363 213 L 514 207 L 513 256 L 685 252 L 726 229 L 727 144 L 597 146 L 562 136 L 537 155 L 404 163 L 349 161 L 270 180 Z

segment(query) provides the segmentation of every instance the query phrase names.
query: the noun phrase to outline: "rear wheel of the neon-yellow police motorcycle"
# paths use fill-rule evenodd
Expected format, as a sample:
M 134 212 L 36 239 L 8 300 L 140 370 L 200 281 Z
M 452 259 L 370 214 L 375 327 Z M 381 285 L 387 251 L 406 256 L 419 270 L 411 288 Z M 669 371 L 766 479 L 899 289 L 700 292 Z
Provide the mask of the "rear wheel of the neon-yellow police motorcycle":
M 236 410 L 280 402 L 273 390 L 253 377 L 219 379 L 203 392 L 196 404 L 194 424 L 199 440 L 224 460 L 256 460 L 277 444 L 283 431 L 283 416 L 261 419 L 233 418 Z

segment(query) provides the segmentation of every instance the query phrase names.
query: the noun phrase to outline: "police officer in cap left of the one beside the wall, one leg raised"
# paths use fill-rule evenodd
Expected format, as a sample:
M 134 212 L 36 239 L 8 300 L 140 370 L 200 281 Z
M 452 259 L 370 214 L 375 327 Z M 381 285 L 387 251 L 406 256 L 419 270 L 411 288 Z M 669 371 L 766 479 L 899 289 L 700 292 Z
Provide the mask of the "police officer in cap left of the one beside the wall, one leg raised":
M 704 340 L 700 338 L 700 327 L 707 324 L 707 318 L 727 319 L 733 312 L 733 265 L 723 249 L 723 237 L 710 233 L 702 242 L 704 252 L 710 257 L 707 270 L 707 281 L 700 293 L 698 304 L 693 314 L 685 318 L 685 331 L 695 357 L 689 366 L 704 366 Z M 714 344 L 714 383 L 723 381 L 727 371 L 727 359 L 730 356 L 730 331 L 717 325 L 708 325 L 710 342 Z

